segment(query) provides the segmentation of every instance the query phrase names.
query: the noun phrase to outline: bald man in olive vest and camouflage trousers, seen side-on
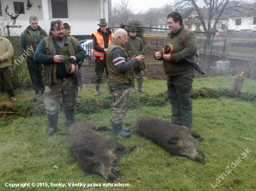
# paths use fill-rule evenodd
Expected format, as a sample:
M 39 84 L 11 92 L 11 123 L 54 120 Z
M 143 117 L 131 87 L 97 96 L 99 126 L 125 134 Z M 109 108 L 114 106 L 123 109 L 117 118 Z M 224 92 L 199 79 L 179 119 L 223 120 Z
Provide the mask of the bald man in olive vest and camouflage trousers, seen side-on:
M 114 40 L 108 46 L 107 51 L 107 70 L 108 87 L 112 93 L 112 132 L 122 137 L 129 138 L 131 134 L 128 128 L 122 127 L 122 121 L 129 107 L 129 89 L 133 79 L 133 70 L 135 64 L 144 59 L 143 55 L 129 57 L 124 49 L 128 42 L 128 34 L 123 29 L 117 29 L 114 34 Z

